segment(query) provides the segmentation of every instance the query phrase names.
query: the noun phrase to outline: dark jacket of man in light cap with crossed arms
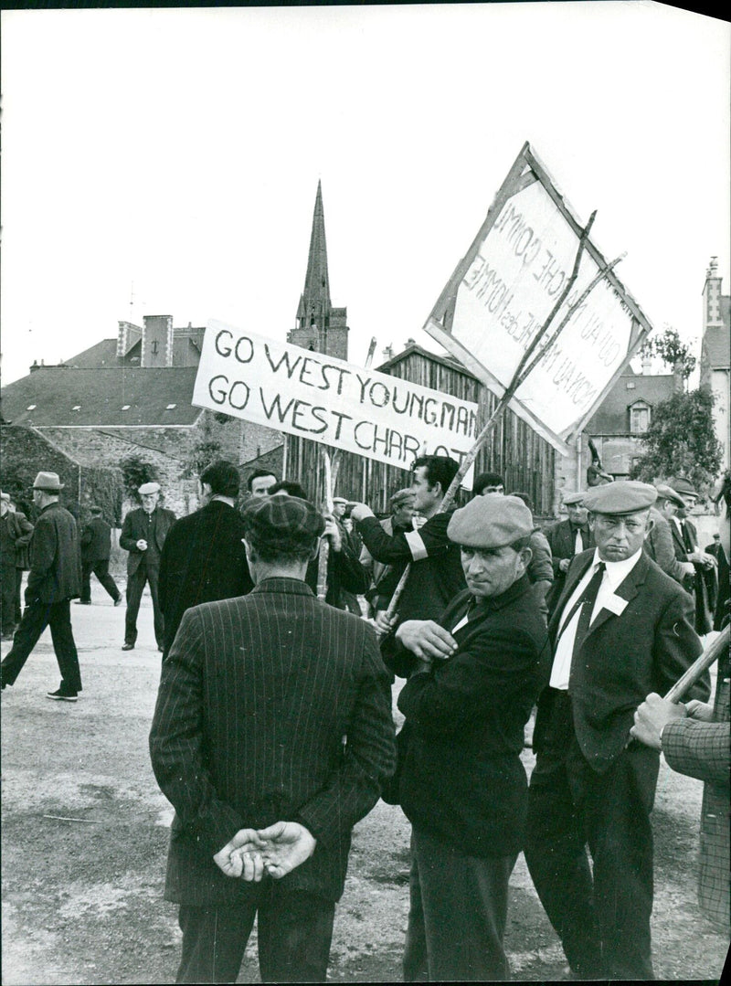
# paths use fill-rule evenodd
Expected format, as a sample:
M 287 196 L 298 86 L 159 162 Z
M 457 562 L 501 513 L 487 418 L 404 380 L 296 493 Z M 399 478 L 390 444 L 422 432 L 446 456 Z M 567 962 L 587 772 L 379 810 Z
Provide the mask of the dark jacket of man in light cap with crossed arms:
M 451 631 L 472 599 L 439 622 Z M 546 621 L 527 576 L 480 599 L 455 634 L 458 651 L 406 681 L 399 708 L 408 741 L 400 795 L 408 819 L 472 856 L 523 848 L 528 783 L 523 728 L 548 681 Z

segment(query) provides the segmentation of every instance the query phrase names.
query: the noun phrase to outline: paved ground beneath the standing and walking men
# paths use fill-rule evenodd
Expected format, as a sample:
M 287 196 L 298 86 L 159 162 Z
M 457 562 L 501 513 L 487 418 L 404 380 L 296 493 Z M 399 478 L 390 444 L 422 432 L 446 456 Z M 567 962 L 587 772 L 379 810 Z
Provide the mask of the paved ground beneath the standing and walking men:
M 124 607 L 93 582 L 73 606 L 84 692 L 58 685 L 49 635 L 2 693 L 3 982 L 166 983 L 175 978 L 176 909 L 162 900 L 170 806 L 149 765 L 147 734 L 160 674 L 149 597 L 134 651 L 122 653 Z M 7 653 L 9 645 L 3 645 Z M 530 770 L 533 757 L 525 754 Z M 695 903 L 701 785 L 663 765 L 654 826 L 653 917 L 659 978 L 716 980 L 728 939 Z M 356 828 L 335 919 L 330 978 L 395 981 L 408 909 L 408 824 L 380 802 Z M 507 947 L 519 980 L 560 975 L 563 957 L 522 857 L 511 880 Z M 240 982 L 256 982 L 256 942 Z

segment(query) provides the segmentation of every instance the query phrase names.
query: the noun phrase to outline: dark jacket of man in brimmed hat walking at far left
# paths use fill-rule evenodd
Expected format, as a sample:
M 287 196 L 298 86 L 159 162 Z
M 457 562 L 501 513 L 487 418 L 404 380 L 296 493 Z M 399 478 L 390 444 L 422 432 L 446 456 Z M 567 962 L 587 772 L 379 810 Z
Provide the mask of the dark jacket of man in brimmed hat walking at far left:
M 76 521 L 60 503 L 41 510 L 30 551 L 27 602 L 60 602 L 81 595 L 79 533 Z

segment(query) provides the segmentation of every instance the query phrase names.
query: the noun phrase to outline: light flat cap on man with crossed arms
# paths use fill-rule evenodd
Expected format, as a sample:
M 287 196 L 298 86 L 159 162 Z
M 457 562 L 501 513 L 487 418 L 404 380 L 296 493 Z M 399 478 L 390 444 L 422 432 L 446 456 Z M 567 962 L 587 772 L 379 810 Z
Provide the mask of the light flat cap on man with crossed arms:
M 534 530 L 533 514 L 517 496 L 486 493 L 454 512 L 447 536 L 466 547 L 499 548 Z

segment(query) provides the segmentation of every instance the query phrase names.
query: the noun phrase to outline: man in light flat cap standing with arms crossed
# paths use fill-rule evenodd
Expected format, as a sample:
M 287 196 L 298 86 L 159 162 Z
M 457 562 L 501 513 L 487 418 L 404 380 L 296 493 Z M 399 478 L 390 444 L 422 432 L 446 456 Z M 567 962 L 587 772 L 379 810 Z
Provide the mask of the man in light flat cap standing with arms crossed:
M 550 659 L 527 576 L 533 528 L 517 497 L 456 510 L 447 533 L 467 589 L 438 621 L 396 632 L 414 662 L 399 695 L 399 796 L 413 826 L 407 982 L 510 978 L 502 940 L 528 801 L 523 729 Z

